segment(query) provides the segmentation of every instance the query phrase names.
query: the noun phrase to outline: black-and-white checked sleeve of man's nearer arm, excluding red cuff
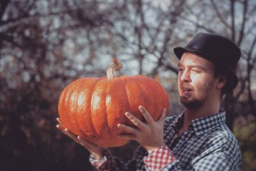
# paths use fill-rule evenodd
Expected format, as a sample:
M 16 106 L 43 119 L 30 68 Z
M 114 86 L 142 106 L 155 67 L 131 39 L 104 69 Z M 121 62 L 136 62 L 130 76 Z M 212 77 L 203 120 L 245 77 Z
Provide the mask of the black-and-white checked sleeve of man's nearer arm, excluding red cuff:
M 186 170 L 241 170 L 241 153 L 234 137 L 216 133 L 202 152 L 191 160 L 191 167 Z M 184 163 L 177 158 L 161 170 L 184 170 Z

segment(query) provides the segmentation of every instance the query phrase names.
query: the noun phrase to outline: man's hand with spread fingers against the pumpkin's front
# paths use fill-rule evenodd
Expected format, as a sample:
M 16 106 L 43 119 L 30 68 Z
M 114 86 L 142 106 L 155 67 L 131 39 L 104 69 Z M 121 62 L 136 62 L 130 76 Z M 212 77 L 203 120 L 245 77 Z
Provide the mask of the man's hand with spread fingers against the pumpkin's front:
M 129 140 L 136 140 L 142 147 L 148 152 L 153 151 L 157 147 L 164 145 L 164 119 L 166 115 L 166 108 L 163 109 L 161 117 L 158 121 L 154 121 L 150 114 L 144 107 L 139 107 L 141 114 L 146 120 L 146 123 L 141 122 L 138 118 L 129 112 L 125 113 L 125 116 L 134 123 L 137 128 L 126 126 L 124 124 L 118 124 L 118 128 L 127 131 L 131 134 L 119 135 L 122 138 Z

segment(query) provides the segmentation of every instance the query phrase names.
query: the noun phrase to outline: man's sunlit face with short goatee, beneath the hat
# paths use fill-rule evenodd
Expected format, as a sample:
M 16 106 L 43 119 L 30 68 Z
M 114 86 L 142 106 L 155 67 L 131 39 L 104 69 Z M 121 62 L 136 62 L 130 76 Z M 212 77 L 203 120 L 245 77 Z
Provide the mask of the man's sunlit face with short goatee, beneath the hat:
M 214 92 L 214 64 L 196 54 L 185 52 L 178 64 L 181 103 L 189 109 L 201 107 Z

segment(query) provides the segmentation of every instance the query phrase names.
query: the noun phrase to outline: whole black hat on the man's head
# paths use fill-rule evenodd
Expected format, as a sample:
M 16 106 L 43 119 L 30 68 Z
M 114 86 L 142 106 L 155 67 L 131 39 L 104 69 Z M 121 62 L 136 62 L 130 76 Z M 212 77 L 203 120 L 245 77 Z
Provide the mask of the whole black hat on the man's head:
M 241 56 L 241 50 L 227 38 L 208 33 L 198 33 L 186 47 L 173 48 L 180 59 L 184 52 L 193 52 L 215 64 L 216 70 L 222 68 L 228 75 L 225 91 L 232 91 L 237 85 L 236 66 Z

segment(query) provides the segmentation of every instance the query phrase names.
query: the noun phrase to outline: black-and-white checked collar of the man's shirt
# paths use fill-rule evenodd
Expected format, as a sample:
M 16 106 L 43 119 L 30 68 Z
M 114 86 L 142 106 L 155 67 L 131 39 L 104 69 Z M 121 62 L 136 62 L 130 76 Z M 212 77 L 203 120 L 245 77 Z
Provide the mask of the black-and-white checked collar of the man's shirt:
M 184 111 L 175 117 L 174 127 L 179 130 L 180 126 L 182 126 L 184 120 Z M 214 115 L 207 115 L 205 117 L 200 117 L 198 119 L 192 120 L 189 124 L 189 130 L 193 130 L 196 133 L 196 136 L 206 133 L 210 131 L 215 126 L 219 124 L 225 124 L 225 112 L 220 112 Z

